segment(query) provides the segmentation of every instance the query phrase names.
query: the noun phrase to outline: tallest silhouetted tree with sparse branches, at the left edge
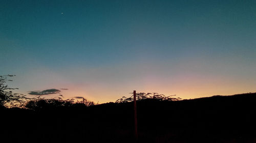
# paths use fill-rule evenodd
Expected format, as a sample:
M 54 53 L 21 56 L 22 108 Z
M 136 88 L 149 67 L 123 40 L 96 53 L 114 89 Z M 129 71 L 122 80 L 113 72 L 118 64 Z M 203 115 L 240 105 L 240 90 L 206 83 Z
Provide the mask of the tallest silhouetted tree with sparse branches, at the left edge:
M 29 99 L 26 95 L 13 93 L 12 90 L 18 88 L 10 88 L 6 81 L 12 81 L 8 77 L 15 75 L 2 75 L 0 76 L 0 106 L 6 107 L 23 107 L 24 103 Z

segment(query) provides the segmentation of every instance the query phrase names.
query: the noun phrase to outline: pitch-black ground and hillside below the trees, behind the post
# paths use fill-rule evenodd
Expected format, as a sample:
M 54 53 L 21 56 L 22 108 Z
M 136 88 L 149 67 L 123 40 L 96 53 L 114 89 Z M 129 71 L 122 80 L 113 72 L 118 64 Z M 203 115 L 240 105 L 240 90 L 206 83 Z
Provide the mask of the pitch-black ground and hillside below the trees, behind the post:
M 138 142 L 256 142 L 256 93 L 137 102 Z M 134 142 L 133 103 L 1 110 L 0 142 Z

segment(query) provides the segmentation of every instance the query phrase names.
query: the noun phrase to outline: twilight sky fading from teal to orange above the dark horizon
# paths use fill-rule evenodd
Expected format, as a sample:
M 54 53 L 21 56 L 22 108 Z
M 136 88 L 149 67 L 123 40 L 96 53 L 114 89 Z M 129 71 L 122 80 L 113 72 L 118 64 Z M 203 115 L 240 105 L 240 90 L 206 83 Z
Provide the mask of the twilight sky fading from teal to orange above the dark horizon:
M 256 1 L 0 1 L 0 75 L 105 103 L 256 92 Z

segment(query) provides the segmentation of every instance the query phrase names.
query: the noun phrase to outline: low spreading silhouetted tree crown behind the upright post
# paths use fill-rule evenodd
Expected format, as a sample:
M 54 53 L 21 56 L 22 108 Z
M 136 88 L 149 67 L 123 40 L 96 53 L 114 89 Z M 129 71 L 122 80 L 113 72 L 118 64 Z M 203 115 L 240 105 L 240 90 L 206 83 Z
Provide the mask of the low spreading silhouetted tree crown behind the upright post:
M 181 98 L 173 98 L 173 96 L 176 95 L 170 95 L 170 96 L 165 96 L 163 94 L 158 94 L 158 93 L 136 93 L 136 100 L 144 100 L 144 99 L 156 99 L 159 101 L 178 101 L 181 100 Z M 116 103 L 125 103 L 125 102 L 132 102 L 133 101 L 133 96 L 126 98 L 123 96 L 122 98 L 116 100 Z

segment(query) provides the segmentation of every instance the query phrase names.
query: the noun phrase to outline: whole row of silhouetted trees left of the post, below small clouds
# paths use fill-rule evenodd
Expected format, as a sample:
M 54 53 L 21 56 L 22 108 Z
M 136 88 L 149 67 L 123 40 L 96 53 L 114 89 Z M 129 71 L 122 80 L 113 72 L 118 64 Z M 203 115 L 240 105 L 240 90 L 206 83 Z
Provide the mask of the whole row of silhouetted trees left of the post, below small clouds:
M 81 98 L 80 101 L 73 99 L 62 99 L 61 97 L 45 99 L 38 97 L 29 98 L 24 94 L 13 93 L 13 90 L 18 88 L 10 88 L 7 85 L 7 81 L 13 81 L 9 77 L 16 75 L 2 75 L 0 76 L 0 106 L 1 107 L 20 107 L 29 109 L 42 109 L 42 108 L 58 108 L 58 107 L 70 107 L 70 106 L 93 106 L 97 103 L 89 101 L 86 98 Z

